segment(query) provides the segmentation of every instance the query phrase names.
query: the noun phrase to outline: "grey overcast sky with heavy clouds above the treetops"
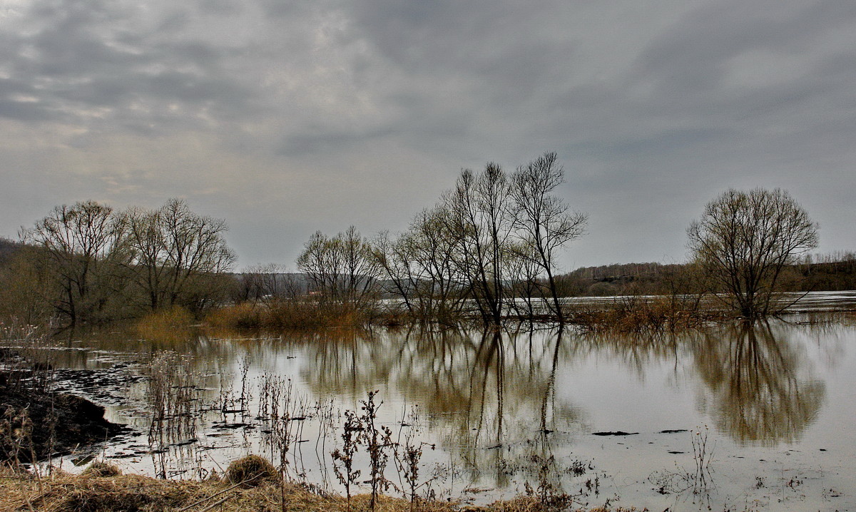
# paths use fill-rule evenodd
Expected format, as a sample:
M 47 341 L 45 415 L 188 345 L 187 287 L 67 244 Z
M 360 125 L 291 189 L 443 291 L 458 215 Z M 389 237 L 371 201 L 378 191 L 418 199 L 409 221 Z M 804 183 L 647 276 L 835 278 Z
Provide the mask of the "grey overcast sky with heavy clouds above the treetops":
M 240 266 L 555 151 L 564 266 L 673 262 L 727 188 L 856 249 L 852 0 L 0 0 L 0 235 L 187 199 Z

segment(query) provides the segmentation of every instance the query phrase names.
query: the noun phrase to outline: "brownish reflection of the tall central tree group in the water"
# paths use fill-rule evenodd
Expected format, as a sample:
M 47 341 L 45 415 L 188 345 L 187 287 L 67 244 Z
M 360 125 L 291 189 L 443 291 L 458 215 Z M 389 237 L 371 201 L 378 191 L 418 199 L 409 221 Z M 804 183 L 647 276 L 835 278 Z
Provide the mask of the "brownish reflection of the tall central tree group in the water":
M 301 378 L 313 393 L 359 399 L 381 389 L 385 399 L 419 402 L 470 481 L 505 487 L 514 474 L 537 473 L 533 461 L 550 460 L 580 431 L 580 409 L 556 403 L 556 369 L 573 353 L 560 330 L 328 333 L 305 348 L 312 365 Z

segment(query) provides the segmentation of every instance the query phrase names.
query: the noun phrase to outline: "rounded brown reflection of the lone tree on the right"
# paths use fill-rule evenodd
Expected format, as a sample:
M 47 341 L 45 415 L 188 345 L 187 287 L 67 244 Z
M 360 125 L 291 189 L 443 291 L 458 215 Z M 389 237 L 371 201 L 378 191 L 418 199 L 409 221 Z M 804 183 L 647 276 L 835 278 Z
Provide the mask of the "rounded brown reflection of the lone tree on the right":
M 825 395 L 805 358 L 766 322 L 730 324 L 700 336 L 695 362 L 710 397 L 702 407 L 741 444 L 800 439 Z

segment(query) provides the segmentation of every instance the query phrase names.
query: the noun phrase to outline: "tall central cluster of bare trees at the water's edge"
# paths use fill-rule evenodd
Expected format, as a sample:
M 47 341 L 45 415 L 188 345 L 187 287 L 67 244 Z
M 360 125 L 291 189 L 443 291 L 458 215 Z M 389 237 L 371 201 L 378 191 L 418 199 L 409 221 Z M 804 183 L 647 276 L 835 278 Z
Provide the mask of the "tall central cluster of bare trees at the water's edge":
M 553 195 L 563 179 L 555 153 L 511 176 L 492 163 L 480 172 L 462 170 L 455 188 L 420 212 L 406 233 L 377 240 L 392 290 L 420 318 L 460 317 L 468 300 L 486 324 L 499 324 L 509 307 L 537 314 L 538 298 L 563 320 L 556 253 L 586 225 L 586 215 L 568 211 Z

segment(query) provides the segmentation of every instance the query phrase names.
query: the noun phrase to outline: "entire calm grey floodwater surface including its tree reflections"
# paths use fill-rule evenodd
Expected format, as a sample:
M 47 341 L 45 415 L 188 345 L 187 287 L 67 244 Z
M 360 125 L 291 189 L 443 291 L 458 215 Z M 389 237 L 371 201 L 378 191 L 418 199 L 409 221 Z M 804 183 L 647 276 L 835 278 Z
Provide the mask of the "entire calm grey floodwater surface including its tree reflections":
M 680 336 L 174 330 L 61 345 L 57 366 L 94 372 L 89 384 L 60 386 L 134 428 L 90 454 L 126 471 L 199 477 L 259 453 L 288 461 L 294 479 L 342 491 L 330 453 L 342 446 L 343 414 L 361 413 L 377 390 L 377 423 L 422 447 L 420 491 L 437 497 L 484 503 L 528 487 L 580 506 L 856 509 L 853 313 Z M 174 402 L 158 402 L 164 389 Z M 167 417 L 153 421 L 153 408 Z M 391 455 L 387 474 L 407 486 Z

